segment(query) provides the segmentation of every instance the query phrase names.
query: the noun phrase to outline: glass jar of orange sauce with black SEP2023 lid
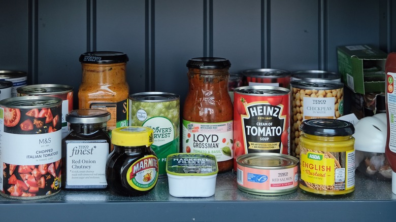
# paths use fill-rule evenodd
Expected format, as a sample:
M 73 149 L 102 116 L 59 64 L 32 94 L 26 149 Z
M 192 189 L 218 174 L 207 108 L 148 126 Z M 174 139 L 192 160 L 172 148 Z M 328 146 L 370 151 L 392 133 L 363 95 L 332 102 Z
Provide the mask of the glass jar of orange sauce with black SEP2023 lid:
M 78 107 L 105 109 L 111 113 L 109 130 L 128 126 L 128 94 L 126 62 L 122 52 L 86 52 L 79 58 L 82 82 L 78 91 Z

